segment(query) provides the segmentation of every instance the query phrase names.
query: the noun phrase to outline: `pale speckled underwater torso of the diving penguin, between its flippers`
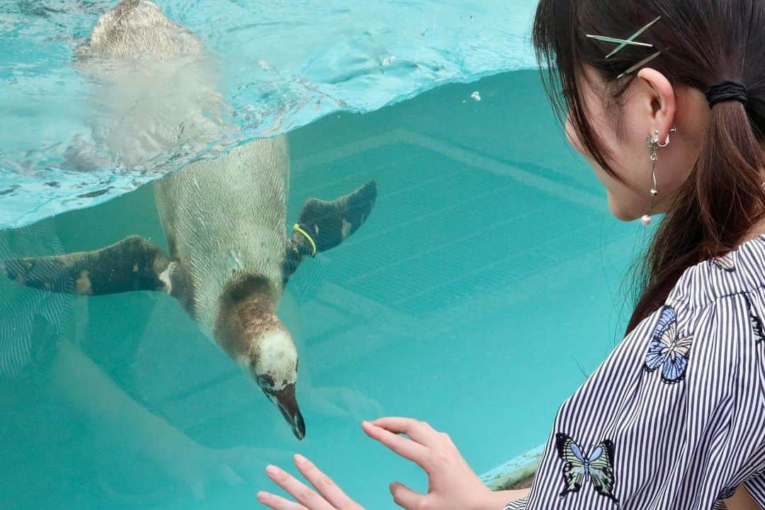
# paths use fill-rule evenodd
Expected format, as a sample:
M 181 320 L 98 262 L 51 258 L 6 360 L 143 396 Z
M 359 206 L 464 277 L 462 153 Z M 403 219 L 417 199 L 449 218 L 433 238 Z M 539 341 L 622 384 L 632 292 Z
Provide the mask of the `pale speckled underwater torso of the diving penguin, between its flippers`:
M 155 184 L 171 257 L 187 269 L 194 315 L 213 330 L 228 284 L 260 274 L 282 290 L 289 156 L 284 136 L 197 161 Z

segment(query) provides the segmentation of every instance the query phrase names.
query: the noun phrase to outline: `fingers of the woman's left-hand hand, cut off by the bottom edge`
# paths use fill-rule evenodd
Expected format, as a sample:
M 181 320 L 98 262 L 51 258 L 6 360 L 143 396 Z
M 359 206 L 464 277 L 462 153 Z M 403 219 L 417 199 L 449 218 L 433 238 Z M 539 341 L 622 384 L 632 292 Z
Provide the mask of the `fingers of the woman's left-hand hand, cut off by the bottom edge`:
M 301 504 L 262 491 L 258 492 L 258 501 L 274 510 L 363 510 L 361 505 L 350 499 L 329 476 L 321 473 L 304 456 L 295 455 L 295 466 L 318 493 L 282 469 L 268 466 L 265 468 L 265 474 Z

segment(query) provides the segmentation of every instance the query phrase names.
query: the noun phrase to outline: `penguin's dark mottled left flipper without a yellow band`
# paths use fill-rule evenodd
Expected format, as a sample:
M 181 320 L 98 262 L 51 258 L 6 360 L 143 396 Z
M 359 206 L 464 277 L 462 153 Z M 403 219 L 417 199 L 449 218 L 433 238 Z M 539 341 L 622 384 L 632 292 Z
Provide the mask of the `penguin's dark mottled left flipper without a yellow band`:
M 11 280 L 42 291 L 98 296 L 170 292 L 172 264 L 158 245 L 130 236 L 93 252 L 6 260 L 0 269 Z

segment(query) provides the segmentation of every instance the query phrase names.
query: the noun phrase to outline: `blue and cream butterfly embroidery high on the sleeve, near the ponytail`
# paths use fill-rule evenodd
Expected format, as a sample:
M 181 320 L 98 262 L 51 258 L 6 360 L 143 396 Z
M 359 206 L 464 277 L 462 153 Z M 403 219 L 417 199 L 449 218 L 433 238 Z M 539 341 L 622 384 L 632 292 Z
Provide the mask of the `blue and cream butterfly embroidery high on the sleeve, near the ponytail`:
M 680 336 L 677 331 L 677 313 L 669 306 L 662 308 L 656 331 L 646 354 L 646 372 L 653 372 L 663 365 L 662 381 L 667 383 L 682 381 L 688 368 L 688 353 L 691 351 L 692 337 Z

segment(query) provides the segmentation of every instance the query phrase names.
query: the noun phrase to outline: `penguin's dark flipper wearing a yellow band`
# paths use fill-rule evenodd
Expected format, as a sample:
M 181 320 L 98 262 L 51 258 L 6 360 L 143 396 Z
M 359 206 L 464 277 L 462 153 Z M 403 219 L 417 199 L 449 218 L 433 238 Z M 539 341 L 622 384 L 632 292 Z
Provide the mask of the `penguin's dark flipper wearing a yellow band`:
M 374 180 L 331 202 L 316 198 L 306 200 L 287 245 L 282 268 L 284 283 L 304 258 L 333 249 L 356 232 L 369 217 L 376 200 Z

